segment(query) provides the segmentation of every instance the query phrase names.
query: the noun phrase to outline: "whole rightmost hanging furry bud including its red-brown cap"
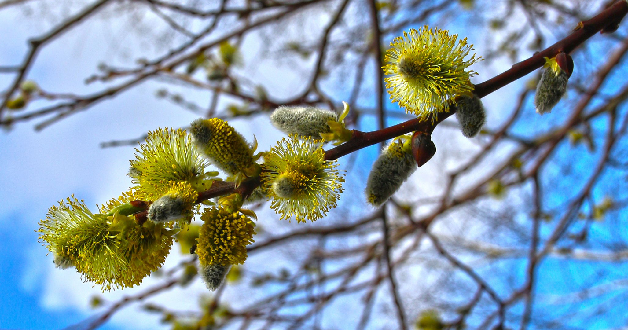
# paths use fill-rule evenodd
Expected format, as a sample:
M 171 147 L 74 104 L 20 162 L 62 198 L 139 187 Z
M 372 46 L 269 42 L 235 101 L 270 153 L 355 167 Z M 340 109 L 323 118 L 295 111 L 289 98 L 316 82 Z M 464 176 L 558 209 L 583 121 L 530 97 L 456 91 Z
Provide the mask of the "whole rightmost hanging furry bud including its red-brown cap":
M 534 107 L 541 115 L 551 112 L 565 95 L 567 81 L 573 71 L 573 60 L 565 53 L 560 53 L 555 58 L 545 58 L 545 61 L 545 70 L 534 94 Z

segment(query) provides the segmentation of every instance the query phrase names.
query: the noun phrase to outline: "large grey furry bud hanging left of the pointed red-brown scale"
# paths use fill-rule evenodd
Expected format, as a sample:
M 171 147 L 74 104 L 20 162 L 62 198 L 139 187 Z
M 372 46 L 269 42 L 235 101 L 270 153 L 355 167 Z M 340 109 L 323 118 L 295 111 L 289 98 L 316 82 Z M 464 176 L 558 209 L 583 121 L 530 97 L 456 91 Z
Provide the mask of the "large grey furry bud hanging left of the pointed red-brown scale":
M 377 158 L 369 173 L 366 198 L 374 206 L 382 205 L 401 187 L 416 169 L 410 141 L 394 139 Z

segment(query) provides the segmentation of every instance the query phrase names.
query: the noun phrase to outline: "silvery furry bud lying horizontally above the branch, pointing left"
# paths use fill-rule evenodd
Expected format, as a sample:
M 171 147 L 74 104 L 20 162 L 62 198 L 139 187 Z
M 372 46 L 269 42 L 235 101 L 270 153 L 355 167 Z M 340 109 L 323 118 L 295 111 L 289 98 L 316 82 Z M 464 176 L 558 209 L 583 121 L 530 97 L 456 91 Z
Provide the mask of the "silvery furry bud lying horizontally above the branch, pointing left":
M 338 114 L 332 110 L 314 107 L 281 106 L 271 114 L 271 123 L 281 132 L 298 137 L 314 137 L 320 139 L 321 133 L 330 133 L 328 120 L 337 120 Z

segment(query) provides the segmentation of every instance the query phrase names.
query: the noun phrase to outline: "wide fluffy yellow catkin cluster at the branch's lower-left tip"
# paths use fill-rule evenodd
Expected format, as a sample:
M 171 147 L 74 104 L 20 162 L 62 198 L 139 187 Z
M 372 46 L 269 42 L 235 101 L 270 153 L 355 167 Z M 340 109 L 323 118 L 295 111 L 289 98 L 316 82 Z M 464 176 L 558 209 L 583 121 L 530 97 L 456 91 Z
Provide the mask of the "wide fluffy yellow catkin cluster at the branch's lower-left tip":
M 172 245 L 171 230 L 133 216 L 94 215 L 83 201 L 68 198 L 40 221 L 40 240 L 55 259 L 71 263 L 103 290 L 133 287 L 159 269 Z

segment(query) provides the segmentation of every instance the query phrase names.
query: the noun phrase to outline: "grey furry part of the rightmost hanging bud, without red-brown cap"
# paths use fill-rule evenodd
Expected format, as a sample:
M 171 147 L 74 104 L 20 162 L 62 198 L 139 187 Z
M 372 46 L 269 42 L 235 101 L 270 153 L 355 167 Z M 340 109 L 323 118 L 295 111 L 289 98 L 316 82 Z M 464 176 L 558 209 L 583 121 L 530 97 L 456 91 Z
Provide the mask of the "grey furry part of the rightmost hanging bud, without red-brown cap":
M 563 70 L 555 74 L 552 68 L 545 68 L 534 94 L 536 112 L 541 115 L 551 112 L 551 109 L 558 104 L 560 98 L 565 95 L 568 79 L 568 74 Z

